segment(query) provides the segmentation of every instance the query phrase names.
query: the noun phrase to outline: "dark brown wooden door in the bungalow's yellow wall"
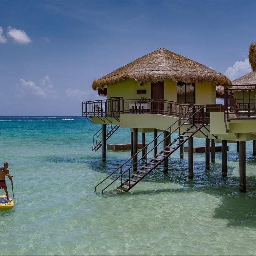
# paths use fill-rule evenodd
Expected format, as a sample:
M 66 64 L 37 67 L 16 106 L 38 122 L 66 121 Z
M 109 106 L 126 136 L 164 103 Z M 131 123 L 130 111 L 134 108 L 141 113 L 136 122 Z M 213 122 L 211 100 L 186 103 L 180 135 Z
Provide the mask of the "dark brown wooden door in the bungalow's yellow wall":
M 151 83 L 151 100 L 151 112 L 161 113 L 164 110 L 164 82 Z

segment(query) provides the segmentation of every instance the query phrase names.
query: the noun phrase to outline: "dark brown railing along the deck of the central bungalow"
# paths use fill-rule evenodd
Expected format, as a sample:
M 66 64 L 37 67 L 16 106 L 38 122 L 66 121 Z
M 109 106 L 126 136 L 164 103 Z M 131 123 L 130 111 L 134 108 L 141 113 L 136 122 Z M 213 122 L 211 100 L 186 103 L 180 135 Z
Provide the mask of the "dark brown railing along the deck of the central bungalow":
M 210 112 L 224 112 L 224 105 L 195 105 L 182 102 L 174 102 L 162 99 L 146 100 L 124 100 L 123 98 L 113 97 L 107 100 L 94 100 L 82 102 L 82 114 L 87 118 L 115 117 L 120 114 L 162 114 L 167 116 L 181 117 L 190 109 L 197 111 L 203 107 L 205 110 L 205 120 L 210 121 Z M 189 118 L 185 116 L 184 118 Z M 202 117 L 198 114 L 194 116 L 196 122 L 202 122 Z

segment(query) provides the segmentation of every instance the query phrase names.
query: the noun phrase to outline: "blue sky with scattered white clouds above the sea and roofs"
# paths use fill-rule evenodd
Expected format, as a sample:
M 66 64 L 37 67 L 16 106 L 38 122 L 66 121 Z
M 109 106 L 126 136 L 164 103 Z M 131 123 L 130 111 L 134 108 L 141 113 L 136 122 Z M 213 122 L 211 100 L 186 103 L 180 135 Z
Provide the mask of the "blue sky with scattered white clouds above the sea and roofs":
M 81 115 L 92 81 L 164 47 L 250 72 L 256 1 L 0 1 L 0 115 Z

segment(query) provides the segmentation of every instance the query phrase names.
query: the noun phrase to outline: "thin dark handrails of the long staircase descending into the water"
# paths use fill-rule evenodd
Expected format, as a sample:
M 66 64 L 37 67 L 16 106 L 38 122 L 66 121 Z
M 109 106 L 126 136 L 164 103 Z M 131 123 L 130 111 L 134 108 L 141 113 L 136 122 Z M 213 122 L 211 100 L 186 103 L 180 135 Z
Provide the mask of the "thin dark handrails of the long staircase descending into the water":
M 166 130 L 164 130 L 162 133 L 160 133 L 156 138 L 154 138 L 154 140 L 156 140 L 158 137 L 160 137 L 164 132 L 168 131 L 174 124 L 176 124 L 177 122 L 179 122 L 184 116 L 186 116 L 186 114 L 188 114 L 191 110 L 194 110 L 194 106 L 188 110 L 183 116 L 181 116 L 178 120 L 176 120 L 176 122 L 174 122 L 173 124 L 171 124 Z M 202 106 L 201 108 L 199 108 L 196 112 L 194 112 L 192 114 L 192 116 L 190 116 L 189 118 L 187 118 L 182 124 L 180 124 L 174 131 L 172 131 L 168 136 L 171 136 L 176 130 L 178 130 L 178 128 L 180 128 L 183 124 L 185 124 L 188 120 L 190 120 L 190 118 L 192 118 L 195 114 L 197 114 L 200 110 L 204 110 L 204 107 Z M 202 119 L 204 119 L 202 117 Z M 159 144 L 161 144 L 168 136 L 166 136 L 161 142 L 159 142 L 156 146 L 154 146 L 150 151 L 148 151 L 144 156 L 146 156 L 147 154 L 149 154 L 152 150 L 154 150 L 154 148 L 156 148 Z M 145 148 L 147 149 L 148 145 L 150 145 L 151 143 L 154 142 L 154 140 L 152 140 L 150 143 L 148 143 L 146 146 L 144 146 L 140 151 L 138 151 L 134 156 L 138 155 L 142 150 L 144 150 Z M 114 170 L 114 172 L 112 172 L 111 174 L 109 174 L 104 180 L 102 180 L 100 183 L 98 183 L 95 186 L 95 192 L 97 190 L 97 187 L 102 184 L 102 182 L 104 182 L 105 180 L 107 180 L 110 176 L 112 176 L 115 172 L 117 172 L 118 170 L 122 170 L 123 166 L 125 164 L 127 164 L 130 160 L 132 160 L 134 158 L 134 156 L 132 156 L 130 159 L 128 159 L 124 164 L 122 164 L 121 166 L 119 166 L 116 170 Z M 144 157 L 142 156 L 142 158 Z M 135 164 L 137 164 L 140 160 L 142 160 L 142 158 L 140 158 L 137 162 L 133 163 L 132 166 L 134 166 Z M 130 166 L 130 168 L 132 168 L 132 166 Z M 111 184 L 113 184 L 116 180 L 118 180 L 123 174 L 125 174 L 130 168 L 128 168 L 125 172 L 122 172 L 120 174 L 120 176 L 118 176 L 115 180 L 113 180 L 108 186 L 106 186 L 106 188 L 108 188 Z M 104 188 L 102 190 L 103 191 L 106 189 Z

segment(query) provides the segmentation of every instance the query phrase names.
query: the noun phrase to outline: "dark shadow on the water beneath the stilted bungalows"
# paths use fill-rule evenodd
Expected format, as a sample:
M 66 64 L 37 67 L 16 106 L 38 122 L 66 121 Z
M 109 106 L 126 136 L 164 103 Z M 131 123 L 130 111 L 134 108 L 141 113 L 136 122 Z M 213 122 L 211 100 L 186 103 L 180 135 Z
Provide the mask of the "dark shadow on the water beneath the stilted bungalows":
M 238 159 L 233 162 L 238 163 Z M 246 164 L 255 165 L 255 159 L 249 158 Z M 104 173 L 111 173 L 120 163 L 108 161 L 100 164 L 94 162 L 92 169 Z M 108 167 L 111 170 L 106 170 Z M 227 226 L 247 227 L 256 229 L 256 176 L 247 176 L 247 193 L 239 192 L 239 177 L 232 176 L 234 173 L 233 164 L 228 163 L 228 177 L 221 176 L 221 164 L 211 164 L 210 170 L 205 170 L 204 161 L 194 161 L 194 178 L 188 178 L 188 161 L 186 159 L 172 158 L 169 161 L 168 173 L 163 173 L 162 166 L 152 171 L 142 182 L 173 183 L 183 188 L 157 189 L 143 191 L 129 191 L 128 193 L 107 192 L 104 196 L 140 196 L 143 194 L 160 193 L 192 193 L 202 192 L 214 197 L 220 197 L 220 205 L 214 210 L 214 218 L 228 221 Z M 110 190 L 113 189 L 110 186 Z M 100 193 L 99 193 L 100 194 Z

